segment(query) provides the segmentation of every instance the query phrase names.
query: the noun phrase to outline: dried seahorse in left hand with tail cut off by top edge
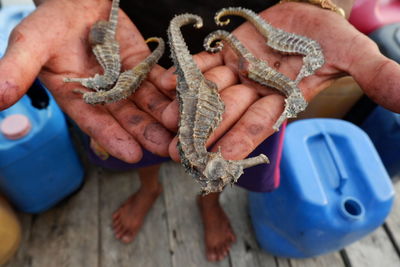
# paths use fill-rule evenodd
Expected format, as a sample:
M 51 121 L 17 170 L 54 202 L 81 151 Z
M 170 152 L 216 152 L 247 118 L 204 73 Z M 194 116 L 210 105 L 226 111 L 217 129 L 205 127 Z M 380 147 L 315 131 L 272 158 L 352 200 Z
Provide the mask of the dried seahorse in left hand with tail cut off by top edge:
M 96 74 L 89 78 L 64 78 L 64 82 L 78 82 L 96 91 L 112 88 L 121 71 L 119 43 L 115 37 L 118 9 L 119 0 L 113 0 L 108 21 L 97 21 L 89 32 L 89 43 L 97 61 L 104 70 L 104 74 Z

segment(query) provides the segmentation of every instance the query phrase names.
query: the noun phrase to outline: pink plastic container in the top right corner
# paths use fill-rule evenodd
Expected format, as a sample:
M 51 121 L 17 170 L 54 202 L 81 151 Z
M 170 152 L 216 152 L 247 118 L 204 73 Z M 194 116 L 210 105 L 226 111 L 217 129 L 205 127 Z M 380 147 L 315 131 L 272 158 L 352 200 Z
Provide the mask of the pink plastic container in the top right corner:
M 400 0 L 356 0 L 349 21 L 365 34 L 400 22 Z

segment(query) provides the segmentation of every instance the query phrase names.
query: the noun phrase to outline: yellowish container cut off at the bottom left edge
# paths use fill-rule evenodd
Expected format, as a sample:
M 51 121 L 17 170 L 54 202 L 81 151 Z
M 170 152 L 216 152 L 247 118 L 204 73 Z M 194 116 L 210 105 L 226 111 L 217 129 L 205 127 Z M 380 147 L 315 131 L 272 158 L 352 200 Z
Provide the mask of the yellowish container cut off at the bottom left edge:
M 21 225 L 4 197 L 0 196 L 0 265 L 16 252 L 21 241 Z

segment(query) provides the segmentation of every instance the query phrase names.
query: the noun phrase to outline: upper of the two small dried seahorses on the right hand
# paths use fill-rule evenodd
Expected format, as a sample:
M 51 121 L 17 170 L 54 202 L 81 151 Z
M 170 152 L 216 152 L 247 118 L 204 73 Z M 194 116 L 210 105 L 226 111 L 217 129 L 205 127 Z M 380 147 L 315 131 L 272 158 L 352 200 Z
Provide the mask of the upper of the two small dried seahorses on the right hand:
M 267 45 L 272 49 L 283 54 L 304 55 L 303 66 L 295 79 L 296 84 L 324 65 L 324 54 L 316 41 L 275 28 L 253 11 L 241 7 L 221 9 L 214 17 L 215 23 L 220 26 L 228 24 L 229 19 L 221 20 L 222 17 L 228 15 L 240 16 L 248 20 L 267 39 Z

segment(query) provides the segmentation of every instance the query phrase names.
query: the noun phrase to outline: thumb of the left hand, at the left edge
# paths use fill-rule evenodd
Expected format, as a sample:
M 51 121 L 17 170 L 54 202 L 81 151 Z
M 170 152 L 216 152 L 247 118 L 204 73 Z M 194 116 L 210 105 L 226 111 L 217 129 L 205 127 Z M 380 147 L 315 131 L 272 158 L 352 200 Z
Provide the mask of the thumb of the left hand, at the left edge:
M 17 102 L 28 90 L 46 62 L 40 53 L 34 34 L 17 27 L 12 32 L 8 48 L 0 60 L 0 110 Z M 45 51 L 43 47 L 40 49 Z

